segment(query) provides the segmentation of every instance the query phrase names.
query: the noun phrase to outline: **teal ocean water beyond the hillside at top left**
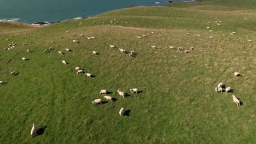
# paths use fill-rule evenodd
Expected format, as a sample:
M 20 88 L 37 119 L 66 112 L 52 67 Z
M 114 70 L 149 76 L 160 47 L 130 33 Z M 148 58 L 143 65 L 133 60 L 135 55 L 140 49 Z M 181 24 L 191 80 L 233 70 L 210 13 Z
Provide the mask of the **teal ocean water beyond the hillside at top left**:
M 131 5 L 161 5 L 165 0 L 0 0 L 0 21 L 34 23 L 91 17 Z M 167 0 L 168 1 L 168 0 Z M 182 0 L 171 0 L 182 1 Z M 159 2 L 159 3 L 158 3 Z

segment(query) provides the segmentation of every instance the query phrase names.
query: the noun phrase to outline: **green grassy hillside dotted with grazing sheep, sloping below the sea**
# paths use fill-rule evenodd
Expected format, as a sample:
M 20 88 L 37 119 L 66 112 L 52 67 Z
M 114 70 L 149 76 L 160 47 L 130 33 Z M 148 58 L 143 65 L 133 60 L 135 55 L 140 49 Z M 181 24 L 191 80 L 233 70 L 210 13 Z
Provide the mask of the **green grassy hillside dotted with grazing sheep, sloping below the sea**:
M 254 10 L 135 7 L 43 28 L 0 23 L 0 81 L 7 82 L 0 85 L 0 143 L 254 143 L 255 17 Z M 142 34 L 147 37 L 138 39 Z M 12 41 L 15 49 L 4 50 Z M 50 46 L 54 50 L 44 53 Z M 136 57 L 118 49 L 134 50 Z M 220 82 L 234 92 L 216 93 Z M 116 100 L 103 99 L 101 89 Z M 128 97 L 119 97 L 118 89 Z M 233 94 L 241 106 L 232 103 Z M 102 105 L 91 103 L 98 98 Z M 39 135 L 32 139 L 33 123 Z

